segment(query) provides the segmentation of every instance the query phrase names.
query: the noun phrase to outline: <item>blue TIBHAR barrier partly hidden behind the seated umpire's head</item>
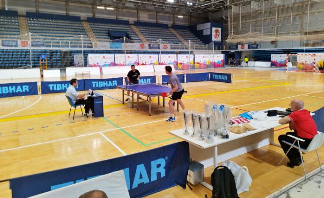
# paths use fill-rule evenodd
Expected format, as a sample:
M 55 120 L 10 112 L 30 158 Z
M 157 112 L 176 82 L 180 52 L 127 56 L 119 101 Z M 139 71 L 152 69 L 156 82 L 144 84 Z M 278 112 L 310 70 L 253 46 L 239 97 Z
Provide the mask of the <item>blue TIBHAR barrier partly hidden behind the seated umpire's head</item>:
M 70 86 L 70 81 L 42 81 L 40 82 L 41 93 L 60 93 L 66 92 L 67 88 Z M 84 89 L 84 80 L 78 80 L 77 91 L 82 91 Z

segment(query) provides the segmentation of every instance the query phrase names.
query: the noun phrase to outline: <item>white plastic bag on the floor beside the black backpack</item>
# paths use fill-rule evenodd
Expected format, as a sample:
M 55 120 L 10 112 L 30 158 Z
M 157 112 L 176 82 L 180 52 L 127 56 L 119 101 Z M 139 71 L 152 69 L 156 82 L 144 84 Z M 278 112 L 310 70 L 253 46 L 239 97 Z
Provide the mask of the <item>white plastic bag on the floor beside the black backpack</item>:
M 232 161 L 224 161 L 222 166 L 226 166 L 230 169 L 234 175 L 237 193 L 243 191 L 249 191 L 252 184 L 252 178 L 249 175 L 249 170 L 246 166 L 240 167 L 238 164 Z

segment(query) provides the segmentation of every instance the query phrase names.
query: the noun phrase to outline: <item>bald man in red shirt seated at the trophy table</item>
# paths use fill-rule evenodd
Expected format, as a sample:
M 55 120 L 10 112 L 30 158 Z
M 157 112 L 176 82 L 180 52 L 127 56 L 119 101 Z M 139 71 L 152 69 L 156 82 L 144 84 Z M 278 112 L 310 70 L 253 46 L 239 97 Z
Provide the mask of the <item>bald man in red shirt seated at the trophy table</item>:
M 279 143 L 285 153 L 288 151 L 290 146 L 283 143 L 282 141 L 285 140 L 287 142 L 293 143 L 295 140 L 294 138 L 291 138 L 287 135 L 293 135 L 305 140 L 305 142 L 300 141 L 299 144 L 301 148 L 307 148 L 308 145 L 311 143 L 314 135 L 317 134 L 316 125 L 313 118 L 310 115 L 310 112 L 308 110 L 303 109 L 304 102 L 299 99 L 294 99 L 291 101 L 290 107 L 293 113 L 279 120 L 279 124 L 289 123 L 290 130 L 294 130 L 294 132 L 288 132 L 286 133 L 286 135 L 279 135 L 278 137 Z M 295 145 L 298 145 L 297 141 Z M 287 153 L 287 157 L 290 160 L 287 163 L 287 166 L 291 168 L 293 168 L 294 166 L 299 166 L 303 160 L 301 159 L 299 151 L 296 148 L 291 148 L 290 151 Z

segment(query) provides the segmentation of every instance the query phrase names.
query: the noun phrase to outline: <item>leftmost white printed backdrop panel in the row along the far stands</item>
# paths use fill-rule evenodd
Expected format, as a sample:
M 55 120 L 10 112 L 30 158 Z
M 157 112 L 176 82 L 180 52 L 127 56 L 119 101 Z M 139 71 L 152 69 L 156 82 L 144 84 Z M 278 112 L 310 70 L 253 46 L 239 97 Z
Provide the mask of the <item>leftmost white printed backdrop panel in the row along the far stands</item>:
M 114 54 L 88 54 L 90 67 L 114 66 Z

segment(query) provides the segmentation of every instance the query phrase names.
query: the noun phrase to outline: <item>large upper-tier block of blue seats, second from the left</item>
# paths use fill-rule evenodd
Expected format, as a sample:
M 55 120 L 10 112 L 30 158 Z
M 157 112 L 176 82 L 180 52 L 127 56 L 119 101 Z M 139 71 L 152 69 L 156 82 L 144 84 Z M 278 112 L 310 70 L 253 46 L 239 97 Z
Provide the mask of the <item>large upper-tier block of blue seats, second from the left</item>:
M 42 47 L 92 47 L 80 17 L 27 12 L 31 38 L 43 41 Z M 81 41 L 81 35 L 82 41 Z M 63 42 L 62 42 L 63 41 Z

